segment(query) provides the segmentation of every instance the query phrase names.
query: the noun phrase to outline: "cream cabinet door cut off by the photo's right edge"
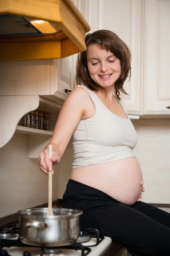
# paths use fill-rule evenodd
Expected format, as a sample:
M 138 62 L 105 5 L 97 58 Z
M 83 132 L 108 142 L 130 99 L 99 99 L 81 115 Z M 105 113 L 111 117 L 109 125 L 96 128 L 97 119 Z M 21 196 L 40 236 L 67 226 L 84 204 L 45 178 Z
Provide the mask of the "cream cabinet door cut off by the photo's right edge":
M 170 1 L 144 2 L 144 114 L 170 114 Z

